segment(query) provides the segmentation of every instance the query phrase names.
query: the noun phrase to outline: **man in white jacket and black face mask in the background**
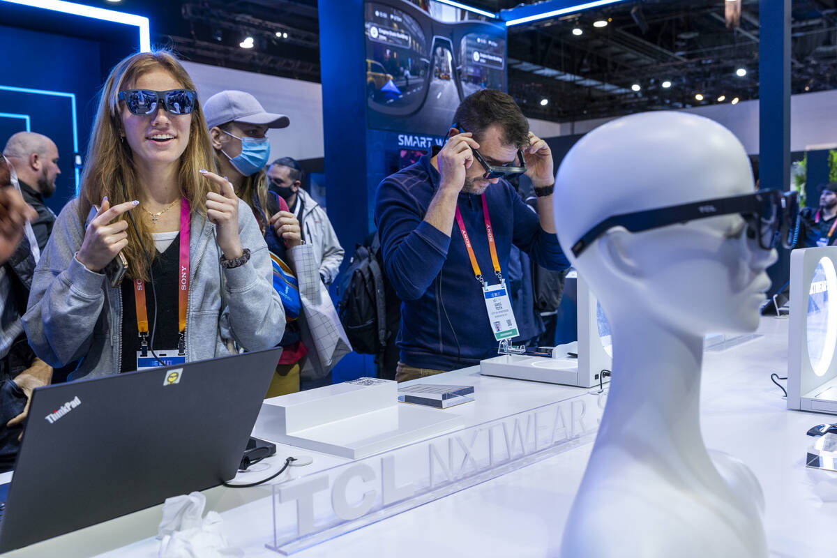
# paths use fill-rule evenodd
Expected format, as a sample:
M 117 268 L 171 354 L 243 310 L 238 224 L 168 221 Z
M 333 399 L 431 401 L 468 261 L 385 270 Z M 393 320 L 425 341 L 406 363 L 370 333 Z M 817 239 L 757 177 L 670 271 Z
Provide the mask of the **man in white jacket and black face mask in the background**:
M 300 188 L 303 178 L 300 163 L 290 157 L 276 159 L 270 163 L 267 178 L 270 190 L 285 199 L 290 211 L 299 220 L 302 240 L 314 246 L 322 282 L 331 284 L 340 269 L 345 251 L 337 240 L 326 210 Z

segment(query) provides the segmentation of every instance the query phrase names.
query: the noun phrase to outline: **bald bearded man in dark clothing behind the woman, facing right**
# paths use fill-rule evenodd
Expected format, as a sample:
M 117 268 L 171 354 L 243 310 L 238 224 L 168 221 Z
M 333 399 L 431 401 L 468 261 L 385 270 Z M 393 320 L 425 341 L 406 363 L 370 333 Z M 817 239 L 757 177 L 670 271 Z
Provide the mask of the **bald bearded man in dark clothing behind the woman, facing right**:
M 44 250 L 55 223 L 55 213 L 44 203 L 44 198 L 55 192 L 55 179 L 61 174 L 58 166 L 58 147 L 43 134 L 21 131 L 8 139 L 3 155 L 18 173 L 23 199 L 38 212 L 32 223 L 38 246 Z

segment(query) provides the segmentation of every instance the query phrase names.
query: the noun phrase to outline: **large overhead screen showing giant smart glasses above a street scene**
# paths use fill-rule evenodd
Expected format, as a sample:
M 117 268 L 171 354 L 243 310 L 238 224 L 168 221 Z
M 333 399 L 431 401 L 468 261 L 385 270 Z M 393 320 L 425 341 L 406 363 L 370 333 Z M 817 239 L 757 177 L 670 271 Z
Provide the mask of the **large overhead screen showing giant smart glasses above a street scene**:
M 445 136 L 460 100 L 506 90 L 506 28 L 442 23 L 403 0 L 365 4 L 367 125 Z

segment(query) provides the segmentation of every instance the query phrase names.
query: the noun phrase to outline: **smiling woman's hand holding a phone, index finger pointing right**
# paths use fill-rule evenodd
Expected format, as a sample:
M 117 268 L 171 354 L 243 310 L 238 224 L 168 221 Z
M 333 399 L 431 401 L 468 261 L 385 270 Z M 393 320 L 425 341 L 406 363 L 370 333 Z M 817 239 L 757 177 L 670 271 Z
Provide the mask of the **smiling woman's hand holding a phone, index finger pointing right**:
M 128 245 L 128 222 L 111 221 L 131 211 L 138 203 L 134 200 L 110 207 L 110 202 L 104 197 L 99 212 L 85 229 L 85 240 L 75 254 L 75 259 L 95 273 L 105 269 L 105 265 L 110 264 L 110 260 L 116 258 L 116 254 Z

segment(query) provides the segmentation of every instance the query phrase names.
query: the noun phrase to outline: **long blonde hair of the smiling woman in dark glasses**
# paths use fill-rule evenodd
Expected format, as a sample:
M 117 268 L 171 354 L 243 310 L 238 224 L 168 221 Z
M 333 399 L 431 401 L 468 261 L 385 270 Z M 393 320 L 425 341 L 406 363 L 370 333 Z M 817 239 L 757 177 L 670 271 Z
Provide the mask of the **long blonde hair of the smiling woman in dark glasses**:
M 143 74 L 156 69 L 164 69 L 182 84 L 183 89 L 195 90 L 192 78 L 183 69 L 180 62 L 171 52 L 157 50 L 150 53 L 137 53 L 123 59 L 110 70 L 105 86 L 102 89 L 99 107 L 90 132 L 90 142 L 87 146 L 85 170 L 81 175 L 81 190 L 79 194 L 79 216 L 85 221 L 90 207 L 98 205 L 102 197 L 107 196 L 111 207 L 131 200 L 141 199 L 141 184 L 136 173 L 133 153 L 128 142 L 122 137 L 121 101 L 119 92 L 128 90 L 136 84 L 136 80 Z M 192 110 L 192 124 L 189 127 L 189 138 L 186 151 L 180 157 L 178 182 L 181 196 L 189 201 L 192 207 L 192 217 L 206 215 L 206 198 L 210 191 L 218 192 L 212 187 L 207 178 L 198 172 L 200 169 L 213 170 L 213 151 L 209 142 L 206 120 L 203 110 L 198 103 Z M 122 214 L 117 220 L 125 220 Z M 145 220 L 134 217 L 137 238 L 134 228 L 129 226 L 128 245 L 122 249 L 128 260 L 127 275 L 131 279 L 148 280 L 148 271 L 142 245 L 149 251 L 148 256 L 154 259 L 157 250 L 151 237 L 151 229 Z

